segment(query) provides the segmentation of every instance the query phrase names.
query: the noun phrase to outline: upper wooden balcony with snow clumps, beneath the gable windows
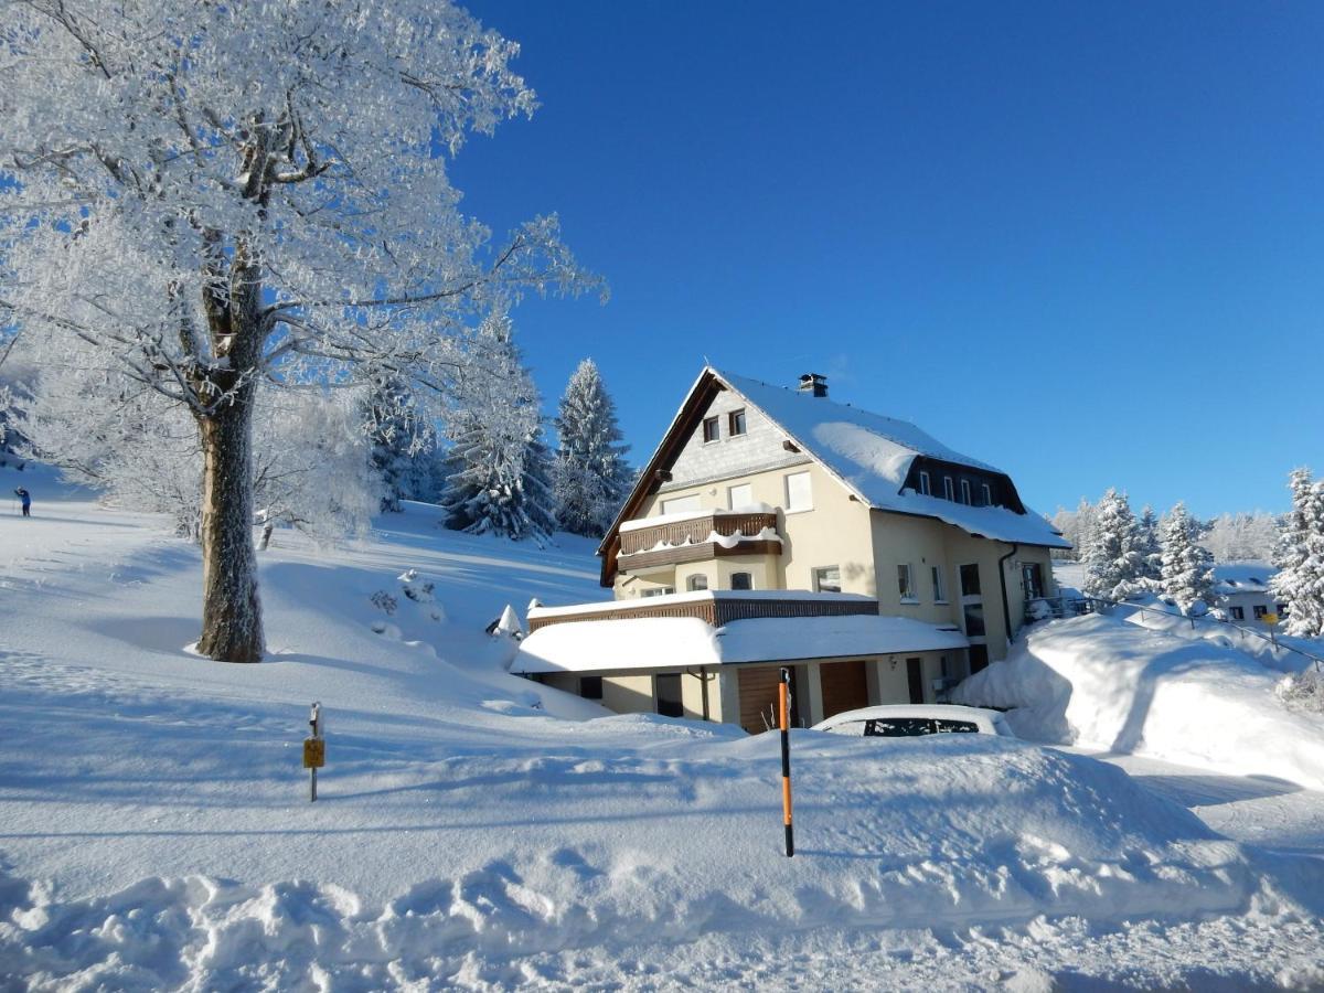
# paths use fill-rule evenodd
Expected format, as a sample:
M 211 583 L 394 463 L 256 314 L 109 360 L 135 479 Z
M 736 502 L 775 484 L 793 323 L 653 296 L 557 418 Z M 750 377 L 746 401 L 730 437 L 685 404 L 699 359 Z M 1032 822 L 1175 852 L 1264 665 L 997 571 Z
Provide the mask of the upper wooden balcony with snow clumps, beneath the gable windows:
M 775 512 L 704 511 L 655 524 L 647 518 L 621 526 L 621 569 L 706 561 L 726 555 L 781 555 Z

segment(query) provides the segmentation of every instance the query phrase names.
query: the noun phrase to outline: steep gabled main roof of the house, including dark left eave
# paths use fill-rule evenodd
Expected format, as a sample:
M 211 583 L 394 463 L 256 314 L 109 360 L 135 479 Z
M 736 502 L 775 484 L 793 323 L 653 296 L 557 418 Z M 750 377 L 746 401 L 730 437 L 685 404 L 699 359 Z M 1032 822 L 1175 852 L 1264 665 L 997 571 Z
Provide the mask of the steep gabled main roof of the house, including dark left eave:
M 908 421 L 704 367 L 667 428 L 662 444 L 639 474 L 634 491 L 602 539 L 598 555 L 612 557 L 621 522 L 633 518 L 647 495 L 657 490 L 658 474 L 675 461 L 708 401 L 722 389 L 733 391 L 761 410 L 785 432 L 788 441 L 837 477 L 870 508 L 936 518 L 968 534 L 998 542 L 1049 548 L 1071 547 L 1059 531 L 1029 508 L 1019 514 L 1005 507 L 974 507 L 904 489 L 911 465 L 916 458 L 925 457 L 1001 477 L 1008 491 L 1019 503 L 1016 486 L 1006 473 L 949 449 Z M 604 561 L 604 577 L 610 568 L 610 563 Z

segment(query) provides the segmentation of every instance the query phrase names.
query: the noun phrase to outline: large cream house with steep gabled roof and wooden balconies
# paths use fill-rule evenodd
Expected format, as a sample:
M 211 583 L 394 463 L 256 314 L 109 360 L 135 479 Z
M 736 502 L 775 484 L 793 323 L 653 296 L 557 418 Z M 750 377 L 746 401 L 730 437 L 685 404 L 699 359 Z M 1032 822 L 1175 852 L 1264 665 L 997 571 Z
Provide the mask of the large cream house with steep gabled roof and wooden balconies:
M 932 702 L 1002 658 L 1067 542 L 1006 473 L 906 421 L 704 368 L 598 547 L 614 600 L 535 608 L 512 671 L 763 731 Z

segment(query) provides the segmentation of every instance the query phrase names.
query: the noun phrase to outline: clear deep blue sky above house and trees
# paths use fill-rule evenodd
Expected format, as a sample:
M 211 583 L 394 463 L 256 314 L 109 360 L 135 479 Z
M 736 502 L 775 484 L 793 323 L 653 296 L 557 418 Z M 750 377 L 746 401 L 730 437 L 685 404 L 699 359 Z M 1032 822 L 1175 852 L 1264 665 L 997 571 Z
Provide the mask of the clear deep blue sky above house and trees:
M 612 299 L 531 302 L 642 461 L 704 359 L 916 421 L 1051 512 L 1324 473 L 1324 4 L 474 3 L 543 102 L 454 166 Z

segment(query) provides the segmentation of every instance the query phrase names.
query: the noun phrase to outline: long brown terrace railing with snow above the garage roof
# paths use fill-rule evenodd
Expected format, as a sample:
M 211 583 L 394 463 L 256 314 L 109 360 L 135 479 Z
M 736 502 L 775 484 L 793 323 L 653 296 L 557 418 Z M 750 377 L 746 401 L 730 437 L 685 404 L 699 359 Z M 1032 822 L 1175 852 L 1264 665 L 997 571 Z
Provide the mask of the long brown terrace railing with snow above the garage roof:
M 714 628 L 756 617 L 876 616 L 878 601 L 854 593 L 809 593 L 798 589 L 706 589 L 639 600 L 601 604 L 536 606 L 528 612 L 528 630 L 572 621 L 629 621 L 637 617 L 698 617 Z

